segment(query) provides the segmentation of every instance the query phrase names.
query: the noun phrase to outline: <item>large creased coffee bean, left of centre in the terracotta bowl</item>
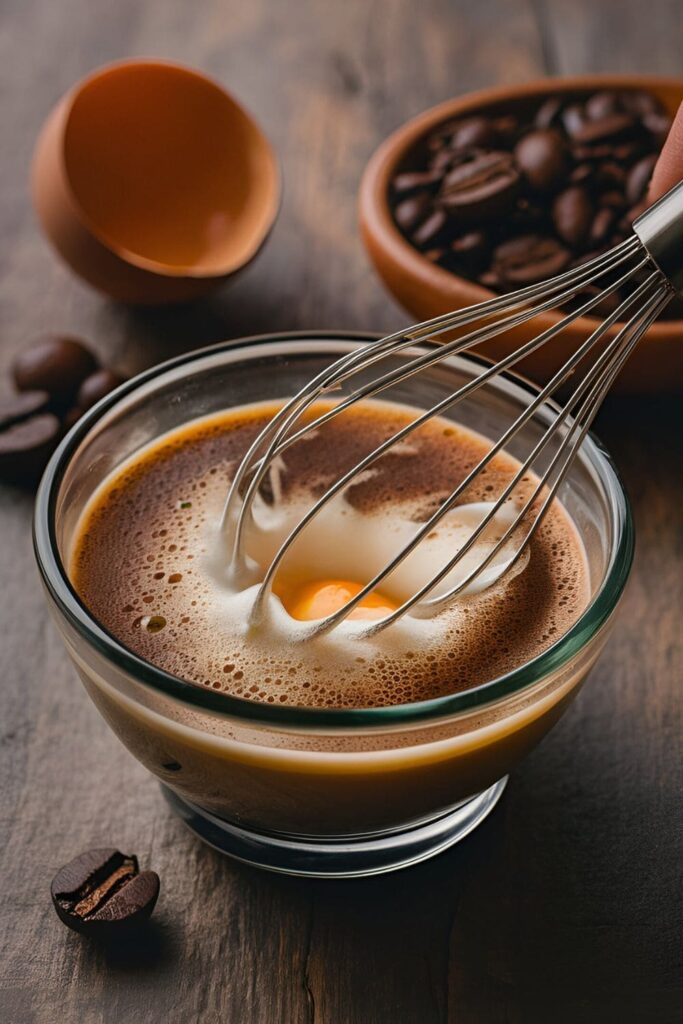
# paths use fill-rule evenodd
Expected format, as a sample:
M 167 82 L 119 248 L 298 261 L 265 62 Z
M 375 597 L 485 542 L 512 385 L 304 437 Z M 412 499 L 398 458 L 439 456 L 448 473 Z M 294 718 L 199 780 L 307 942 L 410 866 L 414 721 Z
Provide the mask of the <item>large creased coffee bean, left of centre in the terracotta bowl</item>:
M 454 167 L 443 179 L 439 201 L 468 221 L 487 220 L 510 209 L 519 173 L 509 153 L 484 153 Z

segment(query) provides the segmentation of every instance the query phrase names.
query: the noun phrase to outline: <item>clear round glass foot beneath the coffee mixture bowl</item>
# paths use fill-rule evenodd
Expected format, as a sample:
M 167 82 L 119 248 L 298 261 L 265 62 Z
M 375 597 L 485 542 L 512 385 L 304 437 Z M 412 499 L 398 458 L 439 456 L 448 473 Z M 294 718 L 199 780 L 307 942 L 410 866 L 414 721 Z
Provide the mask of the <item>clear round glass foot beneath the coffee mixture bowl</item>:
M 254 831 L 205 811 L 167 785 L 162 784 L 162 792 L 190 831 L 236 860 L 282 874 L 351 879 L 396 871 L 447 850 L 490 813 L 507 781 L 505 775 L 427 821 L 386 833 L 330 838 Z

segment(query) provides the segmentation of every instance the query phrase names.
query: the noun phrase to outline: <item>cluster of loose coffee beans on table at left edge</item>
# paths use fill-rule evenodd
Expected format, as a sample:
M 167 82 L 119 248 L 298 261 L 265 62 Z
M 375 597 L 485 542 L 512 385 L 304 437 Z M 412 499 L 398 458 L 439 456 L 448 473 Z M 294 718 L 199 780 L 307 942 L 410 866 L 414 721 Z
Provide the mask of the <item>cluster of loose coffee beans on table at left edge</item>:
M 58 335 L 25 348 L 11 373 L 15 393 L 0 397 L 0 480 L 33 484 L 66 431 L 124 378 Z

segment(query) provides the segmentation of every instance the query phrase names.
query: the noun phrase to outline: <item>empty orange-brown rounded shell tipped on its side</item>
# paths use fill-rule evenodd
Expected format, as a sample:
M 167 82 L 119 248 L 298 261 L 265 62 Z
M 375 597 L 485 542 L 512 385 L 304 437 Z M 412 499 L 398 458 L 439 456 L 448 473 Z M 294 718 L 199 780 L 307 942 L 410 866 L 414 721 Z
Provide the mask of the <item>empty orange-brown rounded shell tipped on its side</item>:
M 40 133 L 33 200 L 50 242 L 124 302 L 194 298 L 258 252 L 280 205 L 273 151 L 217 83 L 163 60 L 89 75 Z

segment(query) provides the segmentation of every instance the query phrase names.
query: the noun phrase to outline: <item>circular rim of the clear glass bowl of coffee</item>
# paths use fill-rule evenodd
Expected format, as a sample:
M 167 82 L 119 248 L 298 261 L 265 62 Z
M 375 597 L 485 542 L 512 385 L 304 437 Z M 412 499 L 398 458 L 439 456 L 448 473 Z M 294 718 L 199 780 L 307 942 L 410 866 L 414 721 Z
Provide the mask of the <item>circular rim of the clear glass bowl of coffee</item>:
M 252 348 L 262 344 L 287 345 L 301 341 L 369 342 L 375 341 L 378 337 L 377 334 L 360 331 L 288 331 L 218 342 L 168 359 L 138 374 L 102 398 L 81 418 L 63 438 L 43 474 L 36 497 L 33 541 L 38 568 L 49 595 L 59 612 L 86 643 L 92 645 L 138 683 L 182 703 L 210 712 L 212 715 L 219 714 L 245 724 L 269 724 L 284 729 L 343 730 L 403 727 L 490 706 L 520 693 L 525 688 L 541 682 L 550 673 L 561 669 L 599 633 L 614 610 L 626 586 L 633 562 L 635 539 L 633 516 L 624 485 L 611 457 L 593 434 L 587 435 L 582 451 L 588 454 L 591 464 L 605 486 L 611 502 L 615 530 L 615 543 L 602 583 L 584 613 L 555 644 L 531 662 L 472 689 L 430 700 L 381 708 L 323 710 L 257 703 L 198 686 L 157 668 L 125 647 L 90 615 L 72 587 L 59 557 L 55 511 L 59 486 L 72 455 L 89 430 L 110 409 L 137 387 L 154 381 L 156 377 L 169 370 L 189 366 L 206 355 L 231 351 L 236 348 Z M 464 361 L 488 365 L 485 358 L 470 353 Z M 529 394 L 538 393 L 538 387 L 523 377 L 508 373 L 503 376 Z M 545 404 L 553 407 L 554 403 Z

